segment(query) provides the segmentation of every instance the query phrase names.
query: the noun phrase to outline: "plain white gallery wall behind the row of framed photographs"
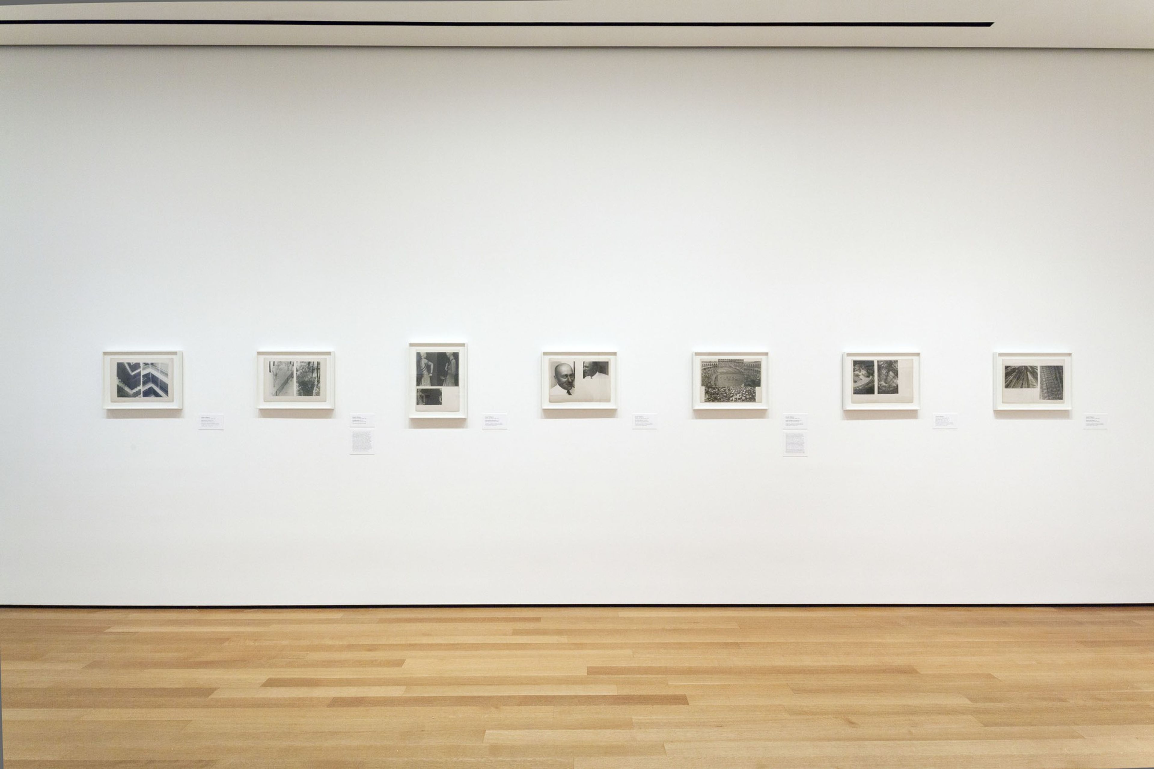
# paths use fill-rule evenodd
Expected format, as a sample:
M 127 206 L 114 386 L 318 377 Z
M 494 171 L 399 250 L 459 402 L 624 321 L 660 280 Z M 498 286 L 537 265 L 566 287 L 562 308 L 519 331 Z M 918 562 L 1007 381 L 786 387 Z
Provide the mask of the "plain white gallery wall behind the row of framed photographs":
M 0 50 L 0 603 L 1154 600 L 1152 94 L 1152 52 Z M 428 341 L 464 426 L 405 417 Z M 293 349 L 335 412 L 257 412 Z M 695 417 L 695 349 L 767 350 L 769 413 Z M 182 350 L 183 411 L 103 411 L 104 350 Z M 544 415 L 542 350 L 616 350 L 616 417 Z M 844 413 L 852 350 L 920 351 L 921 411 Z M 1073 412 L 995 415 L 998 350 L 1072 352 Z

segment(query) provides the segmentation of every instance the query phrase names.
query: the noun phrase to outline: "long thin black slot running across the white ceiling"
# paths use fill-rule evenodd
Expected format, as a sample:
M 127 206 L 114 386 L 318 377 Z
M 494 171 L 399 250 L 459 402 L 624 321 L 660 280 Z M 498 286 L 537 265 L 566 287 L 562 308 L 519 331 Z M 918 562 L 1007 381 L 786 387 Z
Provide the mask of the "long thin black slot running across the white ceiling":
M 973 28 L 994 22 L 512 22 L 512 21 L 331 21 L 288 18 L 2 18 L 0 24 L 160 24 L 231 27 L 530 27 L 530 28 L 767 28 L 767 27 L 889 27 Z

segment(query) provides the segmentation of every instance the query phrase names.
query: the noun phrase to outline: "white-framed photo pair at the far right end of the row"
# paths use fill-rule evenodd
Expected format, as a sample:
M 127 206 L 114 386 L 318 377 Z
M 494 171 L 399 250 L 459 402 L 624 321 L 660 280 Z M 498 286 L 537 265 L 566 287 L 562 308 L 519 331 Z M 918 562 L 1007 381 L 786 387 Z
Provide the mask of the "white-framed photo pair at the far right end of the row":
M 995 352 L 995 411 L 1071 411 L 1073 354 Z

